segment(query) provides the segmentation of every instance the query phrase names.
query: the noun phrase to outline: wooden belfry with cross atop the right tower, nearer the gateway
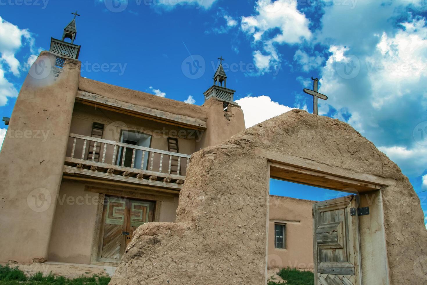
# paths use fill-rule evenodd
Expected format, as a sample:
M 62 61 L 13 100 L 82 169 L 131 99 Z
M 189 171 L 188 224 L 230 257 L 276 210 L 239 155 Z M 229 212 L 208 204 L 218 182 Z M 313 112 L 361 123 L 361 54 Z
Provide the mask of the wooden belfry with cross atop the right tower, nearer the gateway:
M 222 56 L 218 59 L 221 62 L 219 63 L 219 67 L 213 76 L 213 86 L 203 94 L 205 95 L 205 102 L 212 97 L 215 97 L 223 101 L 224 106 L 226 107 L 228 104 L 234 103 L 234 92 L 236 92 L 236 90 L 227 88 L 227 75 L 225 74 L 224 68 L 222 67 L 222 61 L 225 59 L 223 59 Z

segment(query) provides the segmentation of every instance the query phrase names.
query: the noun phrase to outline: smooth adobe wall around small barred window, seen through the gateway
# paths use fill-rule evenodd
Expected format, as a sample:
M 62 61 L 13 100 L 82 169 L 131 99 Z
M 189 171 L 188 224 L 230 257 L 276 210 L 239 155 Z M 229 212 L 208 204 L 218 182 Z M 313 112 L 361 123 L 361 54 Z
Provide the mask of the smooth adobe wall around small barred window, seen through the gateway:
M 316 201 L 270 195 L 268 268 L 313 270 L 313 203 Z M 275 223 L 285 223 L 286 248 L 275 248 Z

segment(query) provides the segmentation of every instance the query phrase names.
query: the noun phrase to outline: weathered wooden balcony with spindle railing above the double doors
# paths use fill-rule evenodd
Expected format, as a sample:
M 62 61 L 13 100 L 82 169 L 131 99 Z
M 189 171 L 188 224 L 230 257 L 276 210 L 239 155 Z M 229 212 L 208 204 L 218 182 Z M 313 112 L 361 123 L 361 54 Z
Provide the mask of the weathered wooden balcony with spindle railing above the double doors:
M 190 155 L 70 134 L 64 177 L 177 192 Z

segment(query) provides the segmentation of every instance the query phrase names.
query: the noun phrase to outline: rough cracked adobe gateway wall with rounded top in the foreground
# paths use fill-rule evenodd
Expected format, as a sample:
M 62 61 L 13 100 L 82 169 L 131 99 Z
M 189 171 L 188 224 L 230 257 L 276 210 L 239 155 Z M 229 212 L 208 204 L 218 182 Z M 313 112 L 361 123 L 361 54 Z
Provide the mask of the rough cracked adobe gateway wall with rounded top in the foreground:
M 139 227 L 110 284 L 263 284 L 268 178 L 258 147 L 392 181 L 382 189 L 391 284 L 426 282 L 424 214 L 407 177 L 347 123 L 292 110 L 195 153 L 177 222 Z

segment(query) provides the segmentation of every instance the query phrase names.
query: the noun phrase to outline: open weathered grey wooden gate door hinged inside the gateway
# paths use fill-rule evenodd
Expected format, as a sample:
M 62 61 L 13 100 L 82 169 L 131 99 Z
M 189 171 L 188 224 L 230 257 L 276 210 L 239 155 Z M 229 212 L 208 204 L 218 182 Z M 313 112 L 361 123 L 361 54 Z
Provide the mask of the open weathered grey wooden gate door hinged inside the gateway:
M 313 205 L 316 285 L 362 285 L 356 196 Z

